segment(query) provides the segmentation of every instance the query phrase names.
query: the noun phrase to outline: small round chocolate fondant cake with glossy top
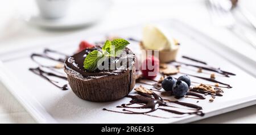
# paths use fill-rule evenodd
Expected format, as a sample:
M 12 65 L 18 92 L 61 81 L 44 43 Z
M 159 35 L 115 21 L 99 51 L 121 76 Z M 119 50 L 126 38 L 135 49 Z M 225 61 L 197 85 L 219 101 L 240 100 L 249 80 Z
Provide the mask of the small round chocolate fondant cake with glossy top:
M 135 54 L 125 48 L 121 57 L 114 57 L 114 61 L 109 58 L 109 63 L 126 59 L 127 64 L 92 72 L 84 69 L 84 60 L 93 50 L 101 51 L 101 47 L 87 48 L 65 60 L 64 71 L 73 92 L 81 99 L 94 102 L 117 100 L 129 94 L 135 85 Z

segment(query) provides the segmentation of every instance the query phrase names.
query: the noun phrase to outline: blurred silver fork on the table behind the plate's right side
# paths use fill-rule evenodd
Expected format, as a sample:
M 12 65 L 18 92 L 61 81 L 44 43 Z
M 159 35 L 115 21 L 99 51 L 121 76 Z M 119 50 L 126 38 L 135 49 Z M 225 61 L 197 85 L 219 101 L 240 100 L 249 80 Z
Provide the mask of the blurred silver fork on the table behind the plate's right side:
M 235 24 L 235 19 L 232 12 L 232 3 L 229 0 L 209 0 L 208 9 L 212 17 L 212 21 L 216 26 L 228 28 L 238 37 L 246 40 L 256 49 L 256 41 L 254 35 L 244 31 Z

